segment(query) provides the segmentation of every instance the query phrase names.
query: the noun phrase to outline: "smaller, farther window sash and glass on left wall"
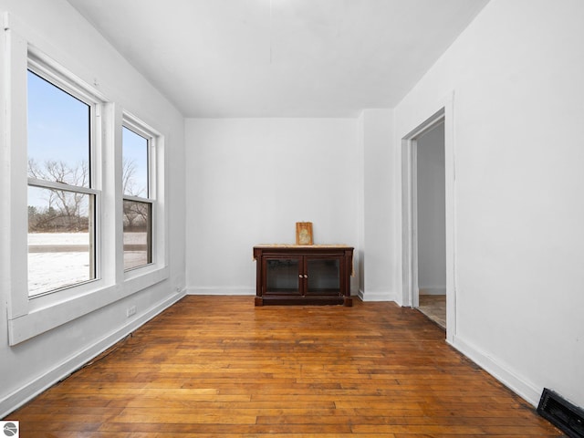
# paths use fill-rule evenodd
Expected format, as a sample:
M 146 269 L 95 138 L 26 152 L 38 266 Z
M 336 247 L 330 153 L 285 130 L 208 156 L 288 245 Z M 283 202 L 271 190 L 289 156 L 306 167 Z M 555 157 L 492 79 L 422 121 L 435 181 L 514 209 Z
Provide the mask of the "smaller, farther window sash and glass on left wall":
M 152 263 L 150 150 L 154 140 L 147 130 L 130 123 L 125 120 L 122 127 L 124 270 Z

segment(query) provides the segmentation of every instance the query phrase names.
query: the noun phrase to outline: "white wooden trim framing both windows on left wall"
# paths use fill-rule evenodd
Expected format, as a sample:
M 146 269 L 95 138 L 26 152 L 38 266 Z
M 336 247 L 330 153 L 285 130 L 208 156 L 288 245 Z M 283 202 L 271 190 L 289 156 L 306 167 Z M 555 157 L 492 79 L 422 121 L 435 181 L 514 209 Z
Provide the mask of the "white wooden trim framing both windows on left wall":
M 121 142 L 121 110 L 117 104 L 108 102 L 105 97 L 92 89 L 87 81 L 69 74 L 57 62 L 44 55 L 29 44 L 25 29 L 9 26 L 5 16 L 5 26 L 0 56 L 4 61 L 2 110 L 5 111 L 5 136 L 0 151 L 3 172 L 0 176 L 3 199 L 7 208 L 0 209 L 0 287 L 5 290 L 8 313 L 8 342 L 16 345 L 31 339 L 52 328 L 57 328 L 74 319 L 103 308 L 124 297 L 128 297 L 146 287 L 159 283 L 169 277 L 167 235 L 167 213 L 163 208 L 164 200 L 164 141 L 159 134 L 156 153 L 156 260 L 144 269 L 123 272 L 122 225 L 117 220 L 121 215 L 122 197 L 121 159 L 115 144 Z M 94 148 L 93 162 L 104 163 L 103 168 L 94 175 L 94 186 L 102 192 L 96 217 L 96 227 L 101 230 L 96 241 L 101 263 L 100 278 L 77 287 L 69 287 L 54 294 L 41 297 L 28 297 L 27 282 L 27 151 L 26 147 L 26 70 L 31 63 L 40 63 L 47 73 L 57 72 L 57 80 L 63 78 L 67 89 L 71 81 L 78 89 L 84 89 L 89 96 L 100 102 L 100 128 L 96 129 L 96 140 L 103 141 L 101 147 Z M 38 66 L 36 65 L 35 68 Z M 51 78 L 52 79 L 52 78 Z M 56 84 L 57 85 L 57 84 Z M 127 116 L 128 117 L 128 116 Z M 133 116 L 130 116 L 133 117 Z M 111 169 L 114 169 L 112 171 Z M 104 214 L 105 211 L 110 212 Z M 160 216 L 160 217 L 159 217 Z M 5 243 L 5 244 L 4 244 Z M 154 244 L 154 243 L 153 243 Z M 114 262 L 103 263 L 104 260 Z

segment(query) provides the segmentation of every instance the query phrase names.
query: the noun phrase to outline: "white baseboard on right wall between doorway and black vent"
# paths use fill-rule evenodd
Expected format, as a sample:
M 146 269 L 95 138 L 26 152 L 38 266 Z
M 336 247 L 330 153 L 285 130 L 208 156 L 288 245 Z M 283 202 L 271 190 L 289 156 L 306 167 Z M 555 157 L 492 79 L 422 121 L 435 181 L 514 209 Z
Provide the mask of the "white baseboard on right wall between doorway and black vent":
M 521 398 L 537 407 L 543 388 L 537 388 L 536 385 L 527 381 L 524 376 L 509 370 L 500 360 L 489 356 L 481 349 L 477 349 L 457 336 L 454 336 L 453 342 L 449 343 L 454 349 L 459 350 L 464 356 L 473 360 L 483 370 L 495 377 L 497 381 L 500 381 L 511 391 L 514 391 Z

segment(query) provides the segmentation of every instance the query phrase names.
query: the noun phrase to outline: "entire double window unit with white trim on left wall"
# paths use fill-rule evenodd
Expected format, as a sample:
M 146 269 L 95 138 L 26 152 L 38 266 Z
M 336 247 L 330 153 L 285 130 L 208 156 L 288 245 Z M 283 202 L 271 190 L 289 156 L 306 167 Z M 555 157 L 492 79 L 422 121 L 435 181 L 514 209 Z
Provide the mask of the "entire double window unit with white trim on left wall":
M 5 32 L 0 278 L 16 345 L 169 278 L 166 148 L 97 79 Z

